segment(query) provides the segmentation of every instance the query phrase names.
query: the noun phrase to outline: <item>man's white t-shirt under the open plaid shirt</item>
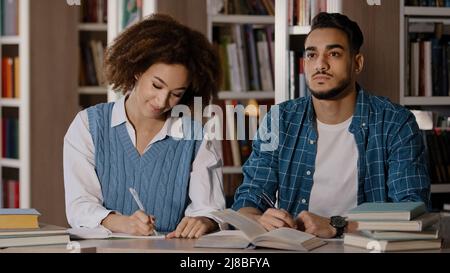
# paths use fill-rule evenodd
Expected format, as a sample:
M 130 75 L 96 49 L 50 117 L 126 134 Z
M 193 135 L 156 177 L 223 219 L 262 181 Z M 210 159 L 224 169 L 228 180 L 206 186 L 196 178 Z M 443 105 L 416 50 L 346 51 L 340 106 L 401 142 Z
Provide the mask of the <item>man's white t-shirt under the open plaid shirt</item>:
M 323 217 L 345 215 L 358 202 L 358 148 L 348 131 L 352 118 L 336 125 L 316 121 L 316 170 L 309 211 Z

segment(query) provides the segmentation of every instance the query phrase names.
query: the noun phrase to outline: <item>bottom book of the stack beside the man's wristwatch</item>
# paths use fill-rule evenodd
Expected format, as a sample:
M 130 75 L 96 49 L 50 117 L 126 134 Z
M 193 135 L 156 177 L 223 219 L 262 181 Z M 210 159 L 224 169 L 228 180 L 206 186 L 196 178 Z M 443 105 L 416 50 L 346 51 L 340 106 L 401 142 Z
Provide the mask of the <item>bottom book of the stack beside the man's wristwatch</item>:
M 441 248 L 440 239 L 430 240 L 375 240 L 361 234 L 348 233 L 344 235 L 344 245 L 365 248 L 381 252 L 390 251 L 411 251 L 411 250 L 432 250 Z

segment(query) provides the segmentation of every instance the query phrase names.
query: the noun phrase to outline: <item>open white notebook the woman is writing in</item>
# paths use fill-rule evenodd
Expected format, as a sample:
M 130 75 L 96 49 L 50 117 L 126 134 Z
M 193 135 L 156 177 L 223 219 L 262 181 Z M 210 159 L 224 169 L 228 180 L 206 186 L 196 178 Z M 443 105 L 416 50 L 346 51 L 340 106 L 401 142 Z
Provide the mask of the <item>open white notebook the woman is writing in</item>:
M 164 239 L 165 235 L 150 235 L 150 236 L 137 236 L 126 233 L 113 233 L 109 229 L 99 226 L 96 228 L 70 228 L 67 230 L 70 237 L 73 239 L 109 239 L 109 238 L 122 238 L 122 239 Z M 161 233 L 160 233 L 161 234 Z

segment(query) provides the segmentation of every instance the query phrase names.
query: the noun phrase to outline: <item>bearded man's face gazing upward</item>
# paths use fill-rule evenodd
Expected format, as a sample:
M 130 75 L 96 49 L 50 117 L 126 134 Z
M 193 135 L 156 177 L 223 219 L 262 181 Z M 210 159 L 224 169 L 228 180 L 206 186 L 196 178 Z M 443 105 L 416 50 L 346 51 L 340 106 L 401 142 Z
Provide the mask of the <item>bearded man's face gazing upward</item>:
M 311 32 L 305 42 L 304 60 L 306 84 L 317 99 L 338 99 L 354 83 L 356 59 L 346 34 L 339 29 Z

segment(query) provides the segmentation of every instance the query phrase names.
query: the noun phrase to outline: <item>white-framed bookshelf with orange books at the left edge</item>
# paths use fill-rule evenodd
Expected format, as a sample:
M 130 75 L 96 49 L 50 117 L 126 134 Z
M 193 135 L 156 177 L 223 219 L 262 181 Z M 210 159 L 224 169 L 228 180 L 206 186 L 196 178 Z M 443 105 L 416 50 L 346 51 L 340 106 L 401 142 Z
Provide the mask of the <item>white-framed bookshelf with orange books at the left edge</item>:
M 15 0 L 2 1 L 2 4 L 0 207 L 28 208 L 30 207 L 30 3 L 29 0 L 20 0 L 19 5 L 19 0 Z

